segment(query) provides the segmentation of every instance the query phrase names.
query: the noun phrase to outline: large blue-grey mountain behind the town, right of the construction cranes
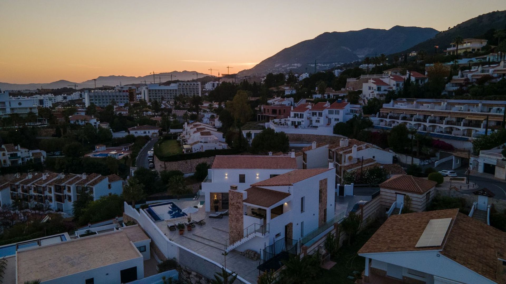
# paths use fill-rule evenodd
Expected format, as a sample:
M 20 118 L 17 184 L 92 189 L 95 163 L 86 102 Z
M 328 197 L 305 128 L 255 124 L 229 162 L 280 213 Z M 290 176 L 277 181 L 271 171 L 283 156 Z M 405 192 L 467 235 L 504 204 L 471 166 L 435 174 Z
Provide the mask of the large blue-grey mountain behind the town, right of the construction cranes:
M 362 29 L 346 32 L 325 32 L 285 48 L 255 67 L 240 71 L 239 76 L 269 72 L 313 72 L 326 70 L 339 63 L 348 63 L 379 54 L 406 50 L 438 33 L 433 28 L 395 26 L 391 29 Z

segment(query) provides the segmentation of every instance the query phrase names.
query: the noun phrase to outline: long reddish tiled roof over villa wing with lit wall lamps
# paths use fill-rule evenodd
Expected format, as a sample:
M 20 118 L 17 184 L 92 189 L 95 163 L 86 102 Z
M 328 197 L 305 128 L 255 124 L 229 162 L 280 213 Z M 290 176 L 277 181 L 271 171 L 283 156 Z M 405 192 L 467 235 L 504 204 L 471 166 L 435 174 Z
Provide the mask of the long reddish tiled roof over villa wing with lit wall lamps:
M 216 156 L 213 169 L 297 169 L 290 156 Z

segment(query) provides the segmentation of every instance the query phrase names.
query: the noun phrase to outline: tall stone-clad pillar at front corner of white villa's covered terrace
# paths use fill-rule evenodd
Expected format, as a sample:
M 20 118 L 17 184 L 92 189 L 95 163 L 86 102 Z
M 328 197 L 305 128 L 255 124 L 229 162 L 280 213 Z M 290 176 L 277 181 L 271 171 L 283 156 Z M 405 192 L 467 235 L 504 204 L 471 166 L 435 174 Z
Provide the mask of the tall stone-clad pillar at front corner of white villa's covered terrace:
M 237 186 L 235 190 L 232 190 L 233 185 L 230 187 L 231 189 L 228 191 L 228 227 L 231 245 L 244 237 L 244 213 L 242 192 L 237 191 Z

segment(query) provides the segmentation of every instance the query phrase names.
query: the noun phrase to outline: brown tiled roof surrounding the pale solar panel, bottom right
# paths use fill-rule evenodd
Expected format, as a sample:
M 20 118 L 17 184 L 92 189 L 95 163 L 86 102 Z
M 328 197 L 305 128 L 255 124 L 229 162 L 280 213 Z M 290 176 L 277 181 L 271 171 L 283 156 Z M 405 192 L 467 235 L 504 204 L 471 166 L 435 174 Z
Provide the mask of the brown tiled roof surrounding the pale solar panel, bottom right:
M 429 221 L 442 218 L 451 218 L 442 244 L 417 248 Z M 494 282 L 506 282 L 502 269 L 498 269 L 498 257 L 506 253 L 506 232 L 458 213 L 458 209 L 392 215 L 358 253 L 434 250 Z

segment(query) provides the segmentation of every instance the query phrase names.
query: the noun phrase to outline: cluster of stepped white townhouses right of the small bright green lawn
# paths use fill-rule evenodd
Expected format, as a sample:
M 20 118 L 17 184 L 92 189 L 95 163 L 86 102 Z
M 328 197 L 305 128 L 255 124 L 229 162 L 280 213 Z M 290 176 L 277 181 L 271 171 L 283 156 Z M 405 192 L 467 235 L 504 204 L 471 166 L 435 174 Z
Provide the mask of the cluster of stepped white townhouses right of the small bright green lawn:
M 222 132 L 208 124 L 197 121 L 190 124 L 185 122 L 180 140 L 184 153 L 228 148 Z

